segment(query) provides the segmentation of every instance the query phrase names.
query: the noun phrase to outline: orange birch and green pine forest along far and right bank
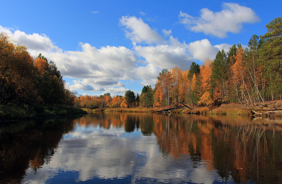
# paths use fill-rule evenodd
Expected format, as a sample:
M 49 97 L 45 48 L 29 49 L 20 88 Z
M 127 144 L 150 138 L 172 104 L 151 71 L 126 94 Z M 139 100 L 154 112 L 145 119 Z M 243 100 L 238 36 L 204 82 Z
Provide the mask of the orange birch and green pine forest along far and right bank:
M 189 70 L 178 67 L 162 69 L 155 87 L 144 86 L 135 96 L 131 90 L 124 97 L 78 97 L 75 105 L 99 107 L 163 107 L 176 103 L 188 106 L 221 104 L 256 104 L 282 98 L 282 18 L 266 25 L 265 35 L 253 35 L 248 48 L 233 44 L 228 51 L 218 51 L 200 66 L 192 62 Z

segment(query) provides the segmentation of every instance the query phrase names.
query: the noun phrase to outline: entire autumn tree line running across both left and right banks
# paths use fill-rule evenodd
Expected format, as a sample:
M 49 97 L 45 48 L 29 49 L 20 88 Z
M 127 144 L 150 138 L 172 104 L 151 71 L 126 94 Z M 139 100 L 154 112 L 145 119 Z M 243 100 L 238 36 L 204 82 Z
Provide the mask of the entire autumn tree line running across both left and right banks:
M 56 64 L 39 54 L 33 59 L 27 48 L 0 35 L 0 104 L 14 106 L 67 105 L 80 108 L 164 107 L 173 104 L 220 106 L 256 104 L 282 98 L 282 18 L 266 25 L 265 35 L 253 35 L 248 48 L 233 44 L 218 51 L 215 59 L 189 70 L 162 69 L 156 84 L 141 94 L 77 97 L 65 86 Z

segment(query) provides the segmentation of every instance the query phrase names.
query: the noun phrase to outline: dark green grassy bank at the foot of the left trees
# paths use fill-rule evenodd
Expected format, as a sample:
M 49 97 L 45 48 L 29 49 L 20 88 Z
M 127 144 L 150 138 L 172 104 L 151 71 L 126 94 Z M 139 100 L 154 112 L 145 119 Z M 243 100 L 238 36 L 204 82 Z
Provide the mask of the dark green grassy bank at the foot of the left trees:
M 86 111 L 71 106 L 5 106 L 0 105 L 0 120 L 22 120 L 85 114 Z

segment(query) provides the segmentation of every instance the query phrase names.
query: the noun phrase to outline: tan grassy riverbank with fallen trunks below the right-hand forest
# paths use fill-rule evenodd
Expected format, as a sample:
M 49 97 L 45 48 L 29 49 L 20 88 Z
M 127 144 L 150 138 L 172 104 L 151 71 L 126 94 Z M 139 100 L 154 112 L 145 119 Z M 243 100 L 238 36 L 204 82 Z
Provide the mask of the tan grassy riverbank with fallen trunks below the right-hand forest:
M 268 101 L 260 103 L 260 106 L 246 106 L 242 104 L 222 104 L 219 107 L 197 107 L 188 109 L 187 107 L 179 107 L 170 110 L 171 113 L 190 113 L 190 114 L 210 114 L 210 115 L 231 115 L 231 116 L 282 116 L 282 112 L 272 112 L 272 109 L 282 109 L 282 100 Z M 105 112 L 145 112 L 155 113 L 162 109 L 172 108 L 169 107 L 135 107 L 135 108 L 98 108 L 98 109 L 84 109 L 85 111 L 105 111 Z M 249 109 L 249 110 L 247 110 Z M 250 110 L 253 109 L 254 111 Z M 260 114 L 256 114 L 260 113 Z

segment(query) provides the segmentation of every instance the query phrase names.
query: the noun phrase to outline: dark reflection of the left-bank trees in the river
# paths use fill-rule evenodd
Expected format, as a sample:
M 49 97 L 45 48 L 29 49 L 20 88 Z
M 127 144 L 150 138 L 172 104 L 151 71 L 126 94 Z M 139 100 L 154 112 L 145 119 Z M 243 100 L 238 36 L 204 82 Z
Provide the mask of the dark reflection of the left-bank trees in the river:
M 20 183 L 25 170 L 50 163 L 63 134 L 73 129 L 68 118 L 31 120 L 0 126 L 0 183 Z

